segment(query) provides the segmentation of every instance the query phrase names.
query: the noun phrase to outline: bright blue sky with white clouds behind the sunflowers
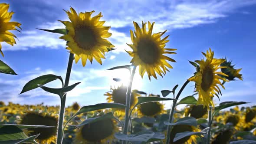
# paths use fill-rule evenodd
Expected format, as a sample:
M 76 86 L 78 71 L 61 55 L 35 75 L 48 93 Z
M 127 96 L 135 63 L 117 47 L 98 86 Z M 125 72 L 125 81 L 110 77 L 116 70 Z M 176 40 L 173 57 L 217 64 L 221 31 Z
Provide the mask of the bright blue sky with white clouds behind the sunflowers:
M 147 75 L 141 79 L 135 75 L 133 88 L 147 93 L 161 94 L 161 90 L 181 85 L 193 75 L 194 67 L 188 60 L 203 58 L 201 52 L 209 47 L 215 57 L 232 59 L 236 68 L 243 68 L 243 81 L 225 84 L 220 101 L 250 101 L 255 105 L 255 47 L 256 47 L 256 0 L 1 0 L 10 3 L 13 10 L 12 21 L 22 24 L 22 33 L 14 32 L 19 40 L 17 45 L 3 45 L 5 57 L 0 59 L 10 65 L 19 75 L 0 74 L 0 100 L 21 104 L 59 105 L 59 97 L 37 88 L 18 95 L 26 82 L 44 74 L 61 75 L 65 78 L 69 53 L 65 42 L 59 34 L 47 33 L 35 28 L 64 28 L 57 20 L 68 20 L 66 13 L 69 6 L 79 12 L 95 10 L 102 12 L 105 26 L 111 26 L 112 37 L 109 41 L 116 50 L 106 54 L 102 65 L 96 61 L 92 65 L 87 62 L 82 67 L 81 61 L 74 64 L 70 84 L 82 82 L 68 93 L 67 105 L 78 101 L 80 105 L 93 105 L 106 102 L 104 93 L 110 86 L 120 85 L 112 78 L 125 79 L 125 70 L 105 71 L 119 65 L 128 65 L 131 57 L 124 49 L 125 43 L 131 43 L 130 29 L 132 21 L 155 21 L 154 32 L 167 29 L 170 42 L 167 48 L 177 49 L 177 55 L 171 55 L 177 63 L 171 63 L 174 69 L 164 79 L 151 79 Z M 125 75 L 126 74 L 126 75 Z M 193 82 L 187 86 L 182 97 L 191 95 Z M 47 84 L 59 87 L 58 81 Z M 179 88 L 180 88 L 179 87 Z M 166 105 L 169 105 L 167 103 Z

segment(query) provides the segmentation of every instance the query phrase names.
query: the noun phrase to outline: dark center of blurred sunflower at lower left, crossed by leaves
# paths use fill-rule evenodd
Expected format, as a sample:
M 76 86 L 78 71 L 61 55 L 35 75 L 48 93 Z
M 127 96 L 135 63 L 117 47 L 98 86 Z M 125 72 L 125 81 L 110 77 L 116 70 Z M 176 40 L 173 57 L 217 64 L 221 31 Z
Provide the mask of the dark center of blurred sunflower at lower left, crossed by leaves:
M 23 117 L 21 124 L 54 126 L 53 128 L 28 128 L 28 131 L 32 131 L 30 132 L 30 136 L 40 134 L 36 138 L 45 140 L 56 135 L 58 121 L 56 118 L 49 116 L 43 117 L 38 114 L 26 114 Z

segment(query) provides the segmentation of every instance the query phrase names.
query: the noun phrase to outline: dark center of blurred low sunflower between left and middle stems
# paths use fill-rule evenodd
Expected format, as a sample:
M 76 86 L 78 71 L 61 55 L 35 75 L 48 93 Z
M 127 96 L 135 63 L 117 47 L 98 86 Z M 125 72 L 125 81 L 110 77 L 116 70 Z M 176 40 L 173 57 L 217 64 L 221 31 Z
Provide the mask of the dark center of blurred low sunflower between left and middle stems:
M 114 124 L 111 119 L 97 121 L 92 124 L 85 124 L 81 130 L 82 137 L 91 142 L 100 142 L 112 135 Z

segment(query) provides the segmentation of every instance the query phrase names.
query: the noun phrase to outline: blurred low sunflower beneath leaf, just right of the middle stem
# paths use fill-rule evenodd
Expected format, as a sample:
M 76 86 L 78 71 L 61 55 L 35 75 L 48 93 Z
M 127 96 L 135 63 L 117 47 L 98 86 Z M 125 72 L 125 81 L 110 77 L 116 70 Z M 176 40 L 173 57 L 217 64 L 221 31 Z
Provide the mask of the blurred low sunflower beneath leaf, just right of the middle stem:
M 160 95 L 148 95 L 150 96 L 158 96 Z M 138 108 L 138 116 L 149 116 L 154 117 L 155 115 L 164 114 L 166 111 L 164 110 L 164 104 L 161 104 L 159 101 L 148 102 L 137 106 Z

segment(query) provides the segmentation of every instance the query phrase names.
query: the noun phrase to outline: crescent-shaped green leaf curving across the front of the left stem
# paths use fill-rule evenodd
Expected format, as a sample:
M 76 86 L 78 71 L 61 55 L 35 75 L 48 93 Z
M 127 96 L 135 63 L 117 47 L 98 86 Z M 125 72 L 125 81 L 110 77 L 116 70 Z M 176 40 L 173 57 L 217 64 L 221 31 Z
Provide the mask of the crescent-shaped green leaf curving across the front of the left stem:
M 80 83 L 81 82 L 77 82 L 73 85 L 70 85 L 70 86 L 67 86 L 67 87 L 64 87 L 64 88 L 49 88 L 49 87 L 46 87 L 46 86 L 43 86 L 43 85 L 38 85 L 38 86 L 46 92 L 50 92 L 50 93 L 53 93 L 53 94 L 56 94 L 56 95 L 62 95 L 63 93 L 71 91 L 72 89 L 75 88 L 76 85 L 79 85 Z

